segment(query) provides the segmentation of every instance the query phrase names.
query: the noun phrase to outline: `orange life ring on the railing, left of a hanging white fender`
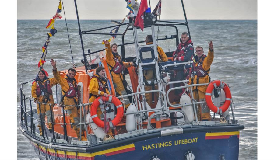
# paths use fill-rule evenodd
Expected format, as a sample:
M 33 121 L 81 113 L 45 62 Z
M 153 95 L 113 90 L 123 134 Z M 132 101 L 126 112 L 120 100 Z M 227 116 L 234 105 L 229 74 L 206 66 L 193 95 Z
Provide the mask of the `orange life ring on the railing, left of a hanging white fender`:
M 109 97 L 100 96 L 97 99 L 95 99 L 91 105 L 91 110 L 90 110 L 91 118 L 93 122 L 97 124 L 97 126 L 102 128 L 104 127 L 104 121 L 100 120 L 100 118 L 97 115 L 97 107 L 99 107 L 100 104 L 104 104 L 104 102 L 111 102 L 117 108 L 116 117 L 110 122 L 107 122 L 109 126 L 114 127 L 122 120 L 122 117 L 124 115 L 124 107 L 122 103 L 120 102 L 118 98 L 114 96 L 109 96 Z

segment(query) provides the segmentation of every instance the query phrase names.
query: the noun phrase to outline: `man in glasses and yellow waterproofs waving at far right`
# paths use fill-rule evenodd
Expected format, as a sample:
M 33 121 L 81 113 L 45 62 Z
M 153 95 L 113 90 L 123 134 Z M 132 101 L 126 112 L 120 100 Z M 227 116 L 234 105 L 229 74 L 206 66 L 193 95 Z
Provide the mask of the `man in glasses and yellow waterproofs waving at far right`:
M 196 47 L 196 56 L 194 57 L 194 62 L 192 64 L 191 77 L 189 78 L 189 84 L 201 84 L 209 83 L 209 70 L 210 65 L 213 62 L 213 43 L 210 41 L 208 43 L 209 50 L 207 56 L 204 54 L 203 48 L 200 46 Z M 204 101 L 206 95 L 207 85 L 195 86 L 192 87 L 193 98 L 196 101 Z M 197 117 L 199 121 L 208 121 L 210 120 L 210 111 L 206 103 L 203 103 L 202 106 L 198 105 Z

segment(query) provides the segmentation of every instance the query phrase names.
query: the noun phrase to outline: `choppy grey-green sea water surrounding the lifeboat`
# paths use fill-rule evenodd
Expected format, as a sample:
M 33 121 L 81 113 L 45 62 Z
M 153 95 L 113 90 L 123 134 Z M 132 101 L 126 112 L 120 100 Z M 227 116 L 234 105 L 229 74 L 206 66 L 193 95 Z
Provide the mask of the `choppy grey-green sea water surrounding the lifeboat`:
M 182 21 L 178 21 L 182 22 Z M 17 21 L 17 120 L 20 120 L 20 83 L 36 77 L 47 33 L 48 20 L 18 20 Z M 83 52 L 76 20 L 68 20 L 68 33 L 74 62 L 82 66 Z M 194 47 L 202 46 L 207 54 L 208 42 L 212 40 L 214 60 L 210 69 L 211 79 L 220 79 L 231 87 L 235 104 L 234 115 L 239 123 L 245 126 L 240 132 L 239 159 L 257 159 L 257 20 L 189 20 L 191 39 Z M 100 27 L 114 25 L 110 20 L 80 21 L 81 30 L 88 31 Z M 177 26 L 179 35 L 187 31 L 185 26 Z M 58 70 L 72 68 L 71 50 L 68 41 L 65 20 L 58 19 L 54 28 L 57 33 L 50 38 L 44 69 L 52 77 L 50 59 L 57 60 Z M 118 33 L 123 33 L 126 26 L 121 26 Z M 111 29 L 98 31 L 109 33 Z M 158 30 L 158 27 L 155 27 Z M 151 30 L 138 31 L 138 39 L 144 40 Z M 160 26 L 159 38 L 176 34 L 173 27 Z M 125 35 L 125 43 L 133 42 L 133 33 L 129 30 Z M 109 35 L 83 35 L 85 53 L 104 49 L 103 39 Z M 121 36 L 115 43 L 120 44 Z M 159 41 L 158 45 L 164 51 L 176 48 L 175 40 Z M 135 55 L 134 44 L 125 48 L 126 56 Z M 120 48 L 118 52 L 121 53 Z M 91 56 L 93 59 L 95 55 Z M 87 57 L 89 59 L 89 57 Z M 27 76 L 26 76 L 27 75 Z M 24 92 L 31 96 L 31 83 L 24 85 Z M 220 144 L 221 145 L 221 144 Z M 23 136 L 17 126 L 17 158 L 21 160 L 38 160 L 28 139 Z

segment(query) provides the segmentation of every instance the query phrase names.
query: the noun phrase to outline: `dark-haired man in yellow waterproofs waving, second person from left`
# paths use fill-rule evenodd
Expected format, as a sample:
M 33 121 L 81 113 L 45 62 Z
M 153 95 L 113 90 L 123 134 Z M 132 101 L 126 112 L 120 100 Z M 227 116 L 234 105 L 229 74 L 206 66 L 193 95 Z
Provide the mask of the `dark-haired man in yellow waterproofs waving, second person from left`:
M 62 88 L 62 102 L 65 105 L 64 109 L 67 111 L 70 121 L 73 127 L 73 130 L 75 130 L 76 135 L 78 139 L 80 140 L 80 109 L 76 107 L 75 105 L 78 105 L 78 89 L 77 89 L 77 82 L 74 76 L 76 75 L 75 69 L 68 69 L 68 74 L 65 78 L 62 78 L 57 71 L 56 68 L 56 61 L 51 59 L 51 65 L 53 67 L 53 76 L 58 81 L 58 83 L 61 85 Z M 83 117 L 83 116 L 82 116 Z M 84 122 L 84 119 L 82 119 L 82 122 Z M 86 141 L 86 137 L 84 135 L 85 128 L 82 126 L 82 135 L 81 140 Z

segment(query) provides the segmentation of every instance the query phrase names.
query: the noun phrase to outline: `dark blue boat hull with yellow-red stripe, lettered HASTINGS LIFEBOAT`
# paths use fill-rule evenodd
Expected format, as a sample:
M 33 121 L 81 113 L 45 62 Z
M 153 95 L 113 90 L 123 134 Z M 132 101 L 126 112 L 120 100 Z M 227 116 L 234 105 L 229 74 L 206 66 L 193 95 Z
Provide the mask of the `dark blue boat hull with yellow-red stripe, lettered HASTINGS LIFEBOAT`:
M 130 141 L 130 138 L 128 140 Z M 92 147 L 89 147 L 86 152 L 50 149 L 31 140 L 30 142 L 40 159 L 137 160 L 157 157 L 160 160 L 181 160 L 185 159 L 190 152 L 195 156 L 195 159 L 238 159 L 239 130 L 174 134 L 149 138 L 100 151 L 92 151 Z

